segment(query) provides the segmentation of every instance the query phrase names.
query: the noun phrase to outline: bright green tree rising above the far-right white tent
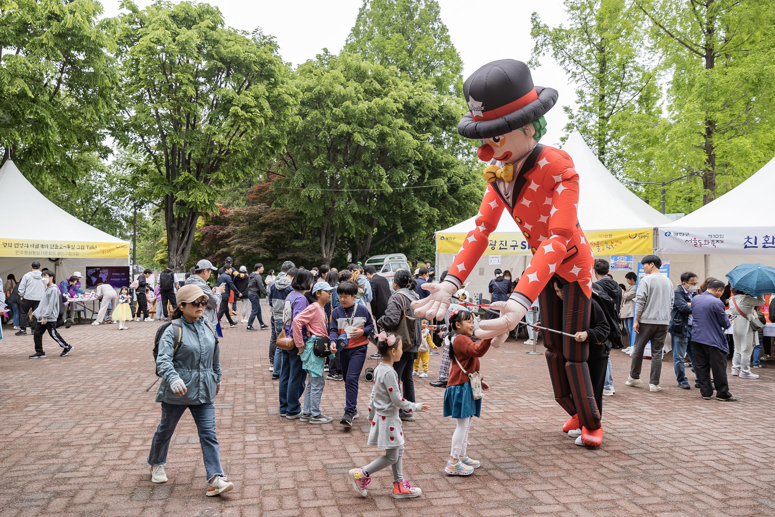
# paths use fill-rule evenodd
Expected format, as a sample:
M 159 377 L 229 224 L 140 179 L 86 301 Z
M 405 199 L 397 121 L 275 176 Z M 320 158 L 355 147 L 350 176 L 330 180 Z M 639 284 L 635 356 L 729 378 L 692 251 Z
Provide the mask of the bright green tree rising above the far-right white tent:
M 671 77 L 666 119 L 653 122 L 633 175 L 699 176 L 684 211 L 711 202 L 769 160 L 773 145 L 773 5 L 766 0 L 633 0 Z M 661 137 L 659 137 L 661 135 Z M 680 190 L 680 187 L 679 187 Z

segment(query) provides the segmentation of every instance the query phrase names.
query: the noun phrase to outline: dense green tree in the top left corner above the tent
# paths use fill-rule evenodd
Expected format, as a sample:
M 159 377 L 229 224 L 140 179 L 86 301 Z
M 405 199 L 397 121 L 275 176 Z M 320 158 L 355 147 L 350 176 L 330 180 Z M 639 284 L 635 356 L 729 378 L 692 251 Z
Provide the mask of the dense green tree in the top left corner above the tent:
M 0 146 L 36 186 L 76 181 L 102 143 L 118 83 L 111 20 L 92 0 L 0 1 Z

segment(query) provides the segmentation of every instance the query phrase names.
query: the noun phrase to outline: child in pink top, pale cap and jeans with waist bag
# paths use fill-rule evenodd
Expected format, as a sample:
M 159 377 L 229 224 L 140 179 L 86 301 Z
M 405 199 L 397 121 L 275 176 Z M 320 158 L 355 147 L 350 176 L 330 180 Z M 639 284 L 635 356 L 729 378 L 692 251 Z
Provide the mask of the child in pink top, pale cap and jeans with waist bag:
M 307 372 L 307 389 L 304 391 L 304 408 L 301 409 L 301 422 L 311 424 L 327 424 L 332 421 L 330 416 L 323 415 L 320 411 L 320 398 L 323 395 L 325 377 L 323 377 L 323 364 L 325 357 L 318 357 L 312 352 L 317 339 L 325 339 L 328 343 L 328 323 L 325 321 L 323 307 L 331 301 L 333 288 L 328 282 L 319 281 L 312 286 L 312 291 L 307 295 L 310 304 L 293 319 L 293 339 L 301 356 L 301 367 Z M 304 329 L 307 329 L 306 334 Z

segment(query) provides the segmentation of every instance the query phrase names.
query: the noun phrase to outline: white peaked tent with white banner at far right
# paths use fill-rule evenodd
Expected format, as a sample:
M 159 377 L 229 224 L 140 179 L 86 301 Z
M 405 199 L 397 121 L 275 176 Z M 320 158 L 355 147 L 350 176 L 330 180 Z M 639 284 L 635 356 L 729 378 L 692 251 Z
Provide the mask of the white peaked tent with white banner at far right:
M 722 280 L 738 264 L 775 266 L 775 227 L 767 216 L 773 191 L 775 158 L 708 205 L 660 225 L 660 252 L 680 257 L 685 270 Z

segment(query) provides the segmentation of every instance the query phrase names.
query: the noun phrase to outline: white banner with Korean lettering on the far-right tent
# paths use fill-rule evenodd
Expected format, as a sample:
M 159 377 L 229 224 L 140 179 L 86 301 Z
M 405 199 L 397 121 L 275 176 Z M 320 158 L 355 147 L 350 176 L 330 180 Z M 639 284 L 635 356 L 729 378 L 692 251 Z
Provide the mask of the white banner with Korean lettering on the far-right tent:
M 659 247 L 662 253 L 775 255 L 775 227 L 660 228 Z

